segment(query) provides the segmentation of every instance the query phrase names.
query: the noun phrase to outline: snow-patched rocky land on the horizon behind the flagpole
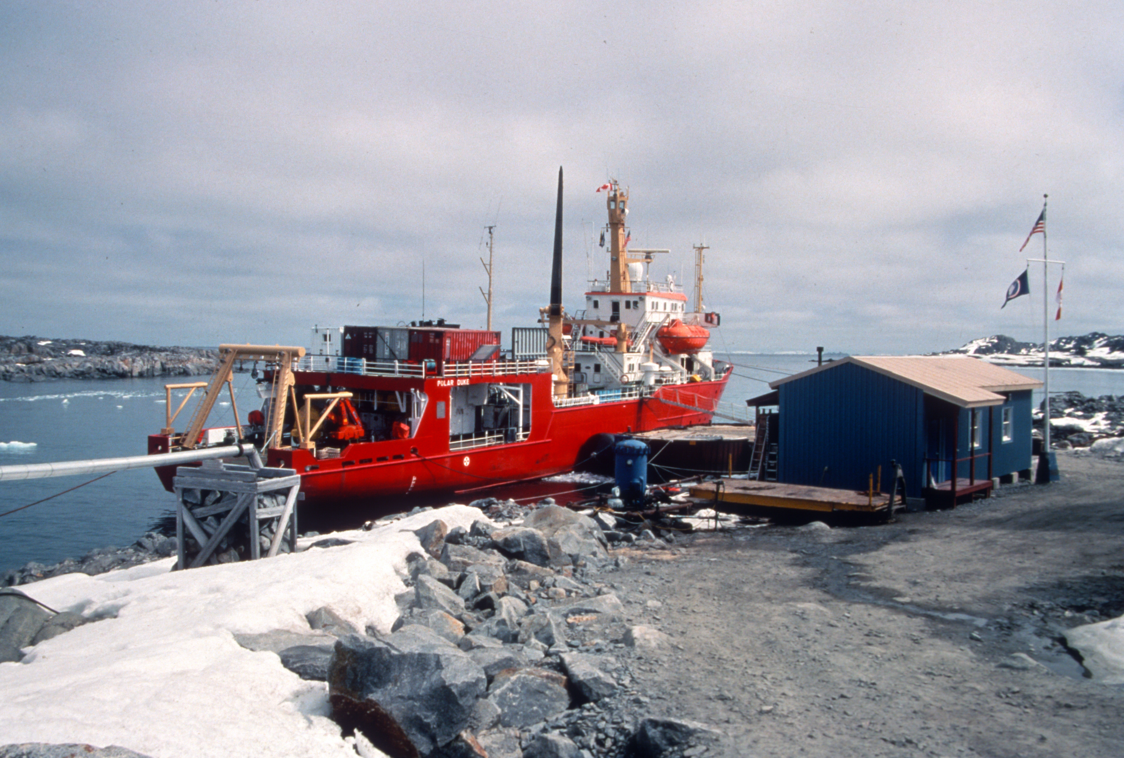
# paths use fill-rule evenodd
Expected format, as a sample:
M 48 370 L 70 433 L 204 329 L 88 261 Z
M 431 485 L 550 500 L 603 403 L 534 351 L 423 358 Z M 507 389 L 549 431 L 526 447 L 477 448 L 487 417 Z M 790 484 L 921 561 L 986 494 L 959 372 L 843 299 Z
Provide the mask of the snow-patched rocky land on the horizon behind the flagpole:
M 941 354 L 978 355 L 1003 366 L 1042 366 L 1042 343 L 1019 342 L 1005 334 L 972 340 L 962 348 Z M 1050 341 L 1050 366 L 1075 369 L 1124 368 L 1124 335 L 1090 332 L 1077 337 Z

